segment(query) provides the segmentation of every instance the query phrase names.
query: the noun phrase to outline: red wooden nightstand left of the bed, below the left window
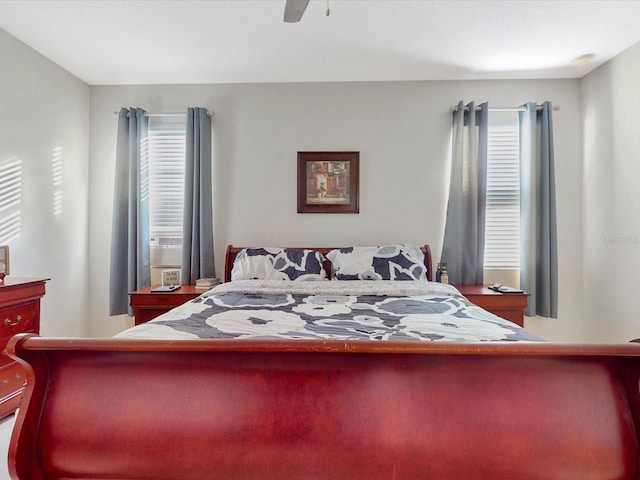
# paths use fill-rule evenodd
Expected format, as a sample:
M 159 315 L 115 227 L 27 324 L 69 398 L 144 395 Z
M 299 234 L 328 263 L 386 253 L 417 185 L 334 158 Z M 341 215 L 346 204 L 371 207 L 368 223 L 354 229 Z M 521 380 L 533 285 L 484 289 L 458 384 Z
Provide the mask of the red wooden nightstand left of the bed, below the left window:
M 133 308 L 136 325 L 153 320 L 173 307 L 182 305 L 206 292 L 206 290 L 196 289 L 195 285 L 182 285 L 173 292 L 152 292 L 151 289 L 157 286 L 152 285 L 129 292 L 129 305 Z

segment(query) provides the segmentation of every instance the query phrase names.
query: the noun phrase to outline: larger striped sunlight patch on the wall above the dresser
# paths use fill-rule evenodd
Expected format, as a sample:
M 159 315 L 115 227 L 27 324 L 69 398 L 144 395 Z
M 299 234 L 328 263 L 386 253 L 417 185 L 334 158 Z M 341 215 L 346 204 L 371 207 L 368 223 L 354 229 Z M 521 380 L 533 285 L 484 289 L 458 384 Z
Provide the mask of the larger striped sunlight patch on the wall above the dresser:
M 0 162 L 0 244 L 20 236 L 22 202 L 22 160 L 12 157 Z

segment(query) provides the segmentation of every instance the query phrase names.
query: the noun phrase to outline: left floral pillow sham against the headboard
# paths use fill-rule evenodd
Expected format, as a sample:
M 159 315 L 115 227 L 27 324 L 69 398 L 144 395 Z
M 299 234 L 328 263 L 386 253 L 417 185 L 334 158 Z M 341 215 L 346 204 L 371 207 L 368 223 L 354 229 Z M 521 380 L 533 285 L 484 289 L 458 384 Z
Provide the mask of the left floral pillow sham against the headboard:
M 231 280 L 325 280 L 324 257 L 296 248 L 243 248 L 231 269 Z

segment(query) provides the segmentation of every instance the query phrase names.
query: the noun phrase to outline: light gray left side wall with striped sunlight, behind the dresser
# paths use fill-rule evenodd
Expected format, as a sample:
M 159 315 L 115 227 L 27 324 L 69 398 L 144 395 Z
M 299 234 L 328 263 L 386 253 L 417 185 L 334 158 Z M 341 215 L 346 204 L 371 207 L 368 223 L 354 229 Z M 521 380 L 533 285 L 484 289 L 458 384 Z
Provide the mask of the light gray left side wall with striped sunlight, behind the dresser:
M 0 169 L 22 169 L 19 203 L 0 203 L 0 244 L 11 249 L 12 276 L 51 279 L 41 333 L 86 335 L 89 87 L 4 30 L 0 65 Z

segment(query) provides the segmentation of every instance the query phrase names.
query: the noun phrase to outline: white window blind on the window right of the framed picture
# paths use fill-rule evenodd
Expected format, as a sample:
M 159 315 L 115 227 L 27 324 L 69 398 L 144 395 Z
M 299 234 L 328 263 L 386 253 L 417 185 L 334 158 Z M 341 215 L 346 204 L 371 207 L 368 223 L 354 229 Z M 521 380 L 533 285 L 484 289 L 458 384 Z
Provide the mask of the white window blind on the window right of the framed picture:
M 489 113 L 484 268 L 520 268 L 520 140 L 517 112 Z

